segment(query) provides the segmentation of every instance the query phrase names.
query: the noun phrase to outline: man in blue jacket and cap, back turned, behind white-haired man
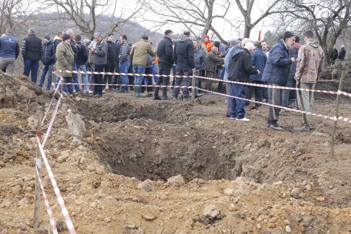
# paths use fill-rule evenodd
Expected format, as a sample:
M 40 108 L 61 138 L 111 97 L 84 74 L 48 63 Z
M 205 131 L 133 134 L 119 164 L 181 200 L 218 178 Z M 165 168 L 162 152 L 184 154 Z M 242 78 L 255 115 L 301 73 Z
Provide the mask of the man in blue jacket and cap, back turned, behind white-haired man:
M 256 41 L 254 46 L 256 49 L 251 54 L 251 60 L 253 62 L 253 66 L 259 70 L 263 71 L 264 67 L 266 66 L 267 56 L 262 51 L 262 44 L 260 41 Z M 262 81 L 262 73 L 258 75 L 250 75 L 250 83 L 260 84 L 263 85 L 264 82 Z M 262 102 L 262 94 L 263 94 L 263 87 L 248 85 L 245 89 L 246 99 L 250 99 L 252 97 L 253 91 L 255 91 L 255 101 Z M 245 101 L 245 106 L 249 106 L 250 101 Z M 261 104 L 255 103 L 256 107 L 261 108 Z

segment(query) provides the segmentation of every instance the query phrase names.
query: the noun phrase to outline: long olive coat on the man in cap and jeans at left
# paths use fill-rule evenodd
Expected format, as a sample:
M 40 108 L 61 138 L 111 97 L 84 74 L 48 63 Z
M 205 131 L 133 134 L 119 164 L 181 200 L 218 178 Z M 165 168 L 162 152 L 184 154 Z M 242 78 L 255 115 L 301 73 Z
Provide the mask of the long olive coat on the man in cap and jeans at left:
M 57 70 L 67 70 L 73 71 L 73 62 L 74 62 L 74 52 L 70 45 L 67 45 L 65 42 L 60 42 L 56 47 L 56 69 Z M 57 72 L 58 75 L 63 77 L 72 77 L 73 73 L 66 72 Z

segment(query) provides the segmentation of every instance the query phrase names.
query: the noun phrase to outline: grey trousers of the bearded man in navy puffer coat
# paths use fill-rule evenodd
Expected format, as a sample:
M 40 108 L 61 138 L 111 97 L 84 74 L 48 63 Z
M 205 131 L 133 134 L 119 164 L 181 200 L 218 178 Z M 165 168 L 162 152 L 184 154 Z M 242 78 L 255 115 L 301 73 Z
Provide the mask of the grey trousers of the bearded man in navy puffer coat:
M 267 85 L 272 85 L 272 86 L 281 86 L 277 83 L 272 83 L 272 82 L 267 82 Z M 277 106 L 282 106 L 283 104 L 283 92 L 284 89 L 282 88 L 268 88 L 268 97 L 269 97 L 269 103 Z M 269 121 L 278 121 L 279 119 L 279 112 L 280 108 L 278 107 L 268 107 L 268 120 Z

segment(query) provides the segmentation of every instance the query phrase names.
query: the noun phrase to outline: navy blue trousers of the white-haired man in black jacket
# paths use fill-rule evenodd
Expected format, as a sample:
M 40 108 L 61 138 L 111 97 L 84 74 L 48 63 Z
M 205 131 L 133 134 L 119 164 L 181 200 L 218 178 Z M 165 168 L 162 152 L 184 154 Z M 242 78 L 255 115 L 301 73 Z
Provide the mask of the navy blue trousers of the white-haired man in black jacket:
M 245 98 L 245 85 L 230 83 L 230 95 L 238 98 Z M 230 98 L 230 118 L 243 119 L 245 118 L 245 100 Z

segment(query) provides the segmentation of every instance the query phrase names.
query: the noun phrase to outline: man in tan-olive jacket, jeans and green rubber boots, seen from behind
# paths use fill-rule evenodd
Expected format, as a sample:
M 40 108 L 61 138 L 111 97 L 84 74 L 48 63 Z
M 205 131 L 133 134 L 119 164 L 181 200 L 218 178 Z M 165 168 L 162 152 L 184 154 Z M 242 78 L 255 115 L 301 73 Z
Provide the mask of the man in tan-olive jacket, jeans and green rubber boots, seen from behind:
M 147 55 L 155 55 L 156 49 L 153 49 L 150 43 L 147 42 L 149 37 L 147 35 L 142 35 L 139 42 L 135 43 L 133 46 L 130 56 L 133 57 L 133 72 L 135 74 L 144 74 L 145 67 L 147 63 Z M 134 85 L 141 85 L 143 82 L 143 75 L 134 76 Z M 134 96 L 139 98 L 145 98 L 146 95 L 141 94 L 141 86 L 134 87 Z

